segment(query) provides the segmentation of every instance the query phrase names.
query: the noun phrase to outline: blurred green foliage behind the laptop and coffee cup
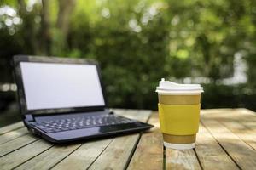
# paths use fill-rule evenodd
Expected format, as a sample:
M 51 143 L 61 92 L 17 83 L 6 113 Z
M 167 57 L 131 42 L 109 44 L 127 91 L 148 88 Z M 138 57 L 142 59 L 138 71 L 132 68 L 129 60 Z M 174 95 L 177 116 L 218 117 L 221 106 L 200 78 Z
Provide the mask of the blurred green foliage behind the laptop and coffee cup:
M 42 5 L 22 12 L 16 1 L 0 3 L 15 8 L 23 20 L 10 35 L 0 15 L 0 59 L 6 62 L 13 54 L 96 59 L 112 107 L 155 109 L 161 77 L 209 77 L 205 108 L 253 105 L 256 1 L 77 0 L 67 37 L 56 26 L 58 3 L 50 2 L 49 53 L 41 48 Z M 220 79 L 233 76 L 236 53 L 247 60 L 247 87 L 219 86 Z

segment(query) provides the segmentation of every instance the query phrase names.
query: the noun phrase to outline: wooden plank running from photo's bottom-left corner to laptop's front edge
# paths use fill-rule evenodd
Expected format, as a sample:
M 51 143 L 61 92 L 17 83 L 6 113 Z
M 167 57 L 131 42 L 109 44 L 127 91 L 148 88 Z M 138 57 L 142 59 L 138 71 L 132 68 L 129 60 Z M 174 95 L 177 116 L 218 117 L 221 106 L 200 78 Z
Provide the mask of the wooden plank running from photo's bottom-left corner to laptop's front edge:
M 15 150 L 9 155 L 3 156 L 0 158 L 0 167 L 1 169 L 12 169 L 19 166 L 21 163 L 31 159 L 33 156 L 37 156 L 42 153 L 44 150 L 48 150 L 51 147 L 51 144 L 44 142 L 43 139 L 28 144 L 20 150 Z

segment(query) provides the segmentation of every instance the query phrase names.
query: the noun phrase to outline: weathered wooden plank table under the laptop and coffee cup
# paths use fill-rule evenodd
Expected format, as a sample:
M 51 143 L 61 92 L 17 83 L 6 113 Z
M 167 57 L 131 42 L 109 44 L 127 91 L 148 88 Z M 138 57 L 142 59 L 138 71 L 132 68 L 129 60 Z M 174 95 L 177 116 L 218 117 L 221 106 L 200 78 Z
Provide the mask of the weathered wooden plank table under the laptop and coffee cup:
M 0 128 L 0 169 L 256 169 L 256 115 L 246 109 L 201 111 L 195 150 L 166 149 L 156 112 L 115 110 L 154 124 L 147 133 L 54 145 L 21 122 Z

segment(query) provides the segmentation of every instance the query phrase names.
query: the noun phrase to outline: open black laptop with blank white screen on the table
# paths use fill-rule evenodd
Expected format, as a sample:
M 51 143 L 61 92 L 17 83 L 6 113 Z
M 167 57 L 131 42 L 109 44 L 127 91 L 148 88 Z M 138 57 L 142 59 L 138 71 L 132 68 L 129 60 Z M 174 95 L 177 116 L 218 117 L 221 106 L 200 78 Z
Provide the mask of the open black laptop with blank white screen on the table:
M 136 133 L 153 127 L 108 109 L 96 61 L 14 56 L 20 112 L 32 133 L 52 143 Z

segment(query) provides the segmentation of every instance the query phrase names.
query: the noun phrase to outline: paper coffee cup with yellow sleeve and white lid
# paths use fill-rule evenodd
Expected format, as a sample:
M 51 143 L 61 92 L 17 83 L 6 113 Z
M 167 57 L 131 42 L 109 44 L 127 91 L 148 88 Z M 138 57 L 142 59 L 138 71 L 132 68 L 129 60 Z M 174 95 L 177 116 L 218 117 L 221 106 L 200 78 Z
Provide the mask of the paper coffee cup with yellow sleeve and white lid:
M 203 92 L 201 85 L 162 79 L 156 92 L 164 145 L 177 150 L 195 148 Z

